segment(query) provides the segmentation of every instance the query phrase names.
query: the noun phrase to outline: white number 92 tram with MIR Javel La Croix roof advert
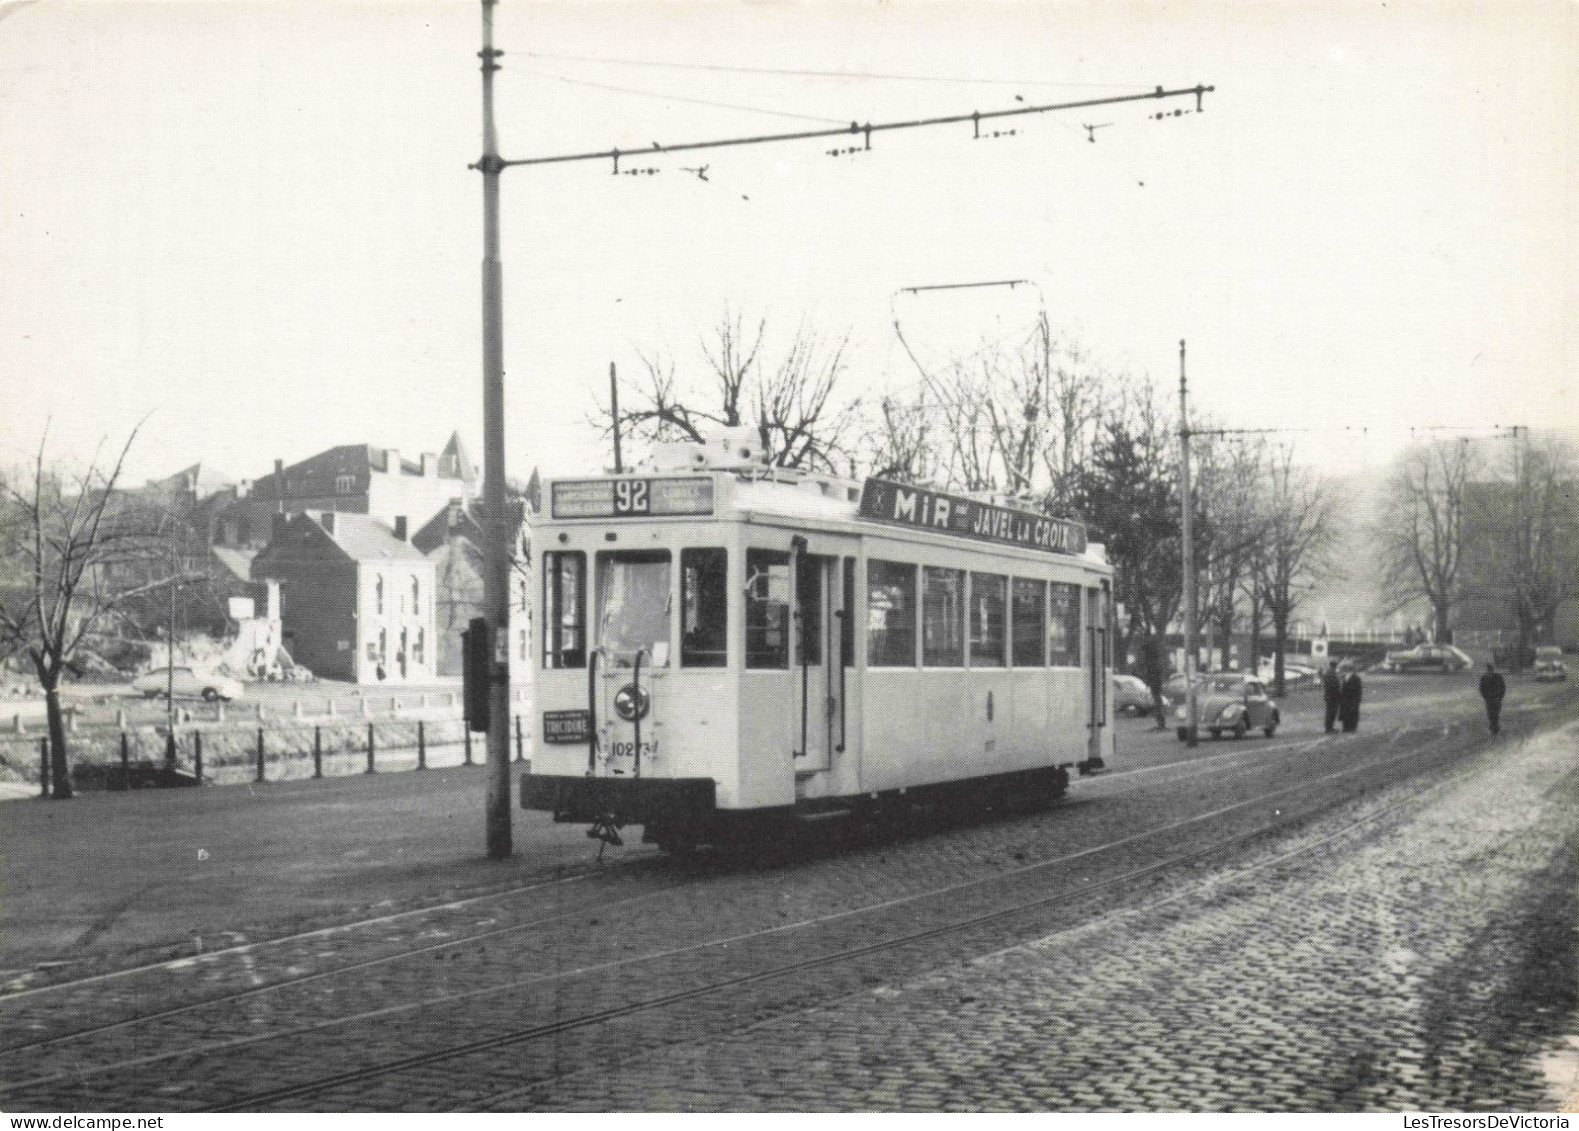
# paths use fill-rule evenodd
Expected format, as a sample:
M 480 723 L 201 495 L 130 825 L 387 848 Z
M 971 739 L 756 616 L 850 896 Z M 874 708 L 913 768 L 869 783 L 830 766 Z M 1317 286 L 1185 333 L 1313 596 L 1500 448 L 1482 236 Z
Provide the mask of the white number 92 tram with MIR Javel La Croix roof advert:
M 1078 524 L 752 449 L 545 483 L 523 807 L 684 850 L 940 788 L 1050 801 L 1112 755 L 1112 569 Z

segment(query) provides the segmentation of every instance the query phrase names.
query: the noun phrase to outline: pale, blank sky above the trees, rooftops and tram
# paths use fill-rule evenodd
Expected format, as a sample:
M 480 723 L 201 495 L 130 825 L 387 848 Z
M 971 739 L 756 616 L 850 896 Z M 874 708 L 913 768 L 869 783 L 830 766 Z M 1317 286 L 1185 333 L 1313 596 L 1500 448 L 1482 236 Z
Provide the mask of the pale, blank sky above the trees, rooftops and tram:
M 496 44 L 507 158 L 1216 87 L 507 171 L 512 477 L 606 463 L 609 363 L 726 311 L 848 333 L 870 396 L 895 319 L 930 362 L 1045 305 L 1168 395 L 1183 338 L 1195 408 L 1345 472 L 1579 430 L 1579 6 L 504 0 Z M 0 464 L 480 455 L 478 46 L 477 3 L 0 0 Z

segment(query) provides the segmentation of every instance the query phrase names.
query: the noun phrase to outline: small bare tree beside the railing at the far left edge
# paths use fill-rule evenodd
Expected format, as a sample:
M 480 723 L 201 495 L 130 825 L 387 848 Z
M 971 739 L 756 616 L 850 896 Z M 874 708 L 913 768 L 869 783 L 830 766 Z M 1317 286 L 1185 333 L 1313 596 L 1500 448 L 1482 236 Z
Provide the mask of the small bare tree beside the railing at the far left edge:
M 177 575 L 148 577 L 148 566 L 169 556 L 150 535 L 141 505 L 115 498 L 126 452 L 99 468 L 71 475 L 44 461 L 39 441 L 32 469 L 3 485 L 0 496 L 0 651 L 22 654 L 44 692 L 49 720 L 52 796 L 71 796 L 60 682 L 79 651 L 117 627 L 128 603 L 163 589 Z

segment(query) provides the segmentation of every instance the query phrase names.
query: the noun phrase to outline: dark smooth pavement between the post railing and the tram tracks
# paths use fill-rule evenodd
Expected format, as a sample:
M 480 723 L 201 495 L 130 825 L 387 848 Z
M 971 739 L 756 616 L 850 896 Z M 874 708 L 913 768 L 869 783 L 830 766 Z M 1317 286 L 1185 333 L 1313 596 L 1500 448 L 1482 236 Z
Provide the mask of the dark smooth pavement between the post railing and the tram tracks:
M 516 772 L 515 856 L 497 862 L 482 766 L 0 806 L 0 986 L 46 962 L 212 949 L 591 864 L 584 828 L 518 807 Z M 638 840 L 605 861 L 654 851 Z

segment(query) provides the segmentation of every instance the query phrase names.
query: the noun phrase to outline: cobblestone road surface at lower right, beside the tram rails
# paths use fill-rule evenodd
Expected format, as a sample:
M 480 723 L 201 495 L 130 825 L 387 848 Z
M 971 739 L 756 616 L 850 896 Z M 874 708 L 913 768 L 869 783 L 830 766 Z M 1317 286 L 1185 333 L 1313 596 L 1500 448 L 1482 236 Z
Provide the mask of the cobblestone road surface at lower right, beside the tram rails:
M 510 1096 L 568 1109 L 1530 1110 L 1574 997 L 1579 730 L 1341 858 Z

